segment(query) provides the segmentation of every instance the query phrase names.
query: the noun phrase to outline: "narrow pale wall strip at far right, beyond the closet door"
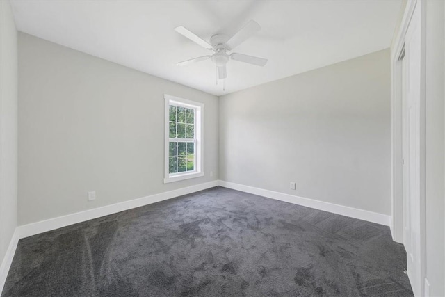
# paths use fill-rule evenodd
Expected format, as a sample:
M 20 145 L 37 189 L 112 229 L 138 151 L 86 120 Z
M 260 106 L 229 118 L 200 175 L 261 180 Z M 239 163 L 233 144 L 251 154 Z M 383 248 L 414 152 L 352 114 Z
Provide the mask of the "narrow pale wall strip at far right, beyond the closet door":
M 445 3 L 426 1 L 426 278 L 445 296 Z

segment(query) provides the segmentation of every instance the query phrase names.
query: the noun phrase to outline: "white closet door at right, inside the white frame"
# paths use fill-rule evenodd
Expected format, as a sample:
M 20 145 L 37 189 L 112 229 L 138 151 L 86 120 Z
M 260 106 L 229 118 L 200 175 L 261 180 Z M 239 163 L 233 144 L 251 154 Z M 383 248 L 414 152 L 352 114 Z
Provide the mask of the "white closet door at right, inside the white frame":
M 407 273 L 415 296 L 422 294 L 420 200 L 421 27 L 419 7 L 405 35 L 403 59 L 403 176 Z

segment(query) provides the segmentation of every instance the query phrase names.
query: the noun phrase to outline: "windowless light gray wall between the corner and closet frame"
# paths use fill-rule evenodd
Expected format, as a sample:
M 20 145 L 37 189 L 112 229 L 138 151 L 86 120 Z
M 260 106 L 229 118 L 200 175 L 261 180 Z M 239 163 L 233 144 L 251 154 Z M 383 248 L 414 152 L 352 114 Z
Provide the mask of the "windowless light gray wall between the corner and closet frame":
M 219 106 L 220 179 L 390 214 L 388 49 L 225 95 Z

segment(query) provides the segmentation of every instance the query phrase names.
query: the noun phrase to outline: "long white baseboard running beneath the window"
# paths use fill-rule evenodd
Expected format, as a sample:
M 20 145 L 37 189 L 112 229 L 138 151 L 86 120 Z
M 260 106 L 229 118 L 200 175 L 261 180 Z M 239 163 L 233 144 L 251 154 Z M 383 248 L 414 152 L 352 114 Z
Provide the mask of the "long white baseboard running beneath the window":
M 50 218 L 49 220 L 41 220 L 40 222 L 22 225 L 17 228 L 19 229 L 20 238 L 24 238 L 42 232 L 47 232 L 49 230 L 55 230 L 68 225 L 85 222 L 86 220 L 92 220 L 93 218 L 100 218 L 101 216 L 108 216 L 109 214 L 115 214 L 120 211 L 161 202 L 163 200 L 179 197 L 181 195 L 202 191 L 207 188 L 213 188 L 214 186 L 218 186 L 218 180 L 207 182 L 204 184 L 197 184 L 195 186 L 188 186 L 186 188 L 178 188 L 177 190 L 149 195 L 143 198 L 137 198 L 116 204 L 106 205 L 104 207 L 88 209 L 86 211 L 80 211 L 75 214 L 68 214 L 66 216 Z

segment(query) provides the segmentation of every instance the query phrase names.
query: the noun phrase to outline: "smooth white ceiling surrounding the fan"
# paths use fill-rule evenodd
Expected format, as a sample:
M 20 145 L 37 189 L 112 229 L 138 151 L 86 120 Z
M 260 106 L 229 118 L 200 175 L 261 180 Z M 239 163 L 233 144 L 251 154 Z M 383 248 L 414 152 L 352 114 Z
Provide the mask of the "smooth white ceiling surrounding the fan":
M 24 1 L 13 0 L 17 29 L 214 95 L 232 93 L 386 49 L 401 0 Z M 268 58 L 265 67 L 229 61 L 225 91 L 212 54 L 175 32 L 204 40 L 233 35 L 250 19 L 262 30 L 234 51 Z

